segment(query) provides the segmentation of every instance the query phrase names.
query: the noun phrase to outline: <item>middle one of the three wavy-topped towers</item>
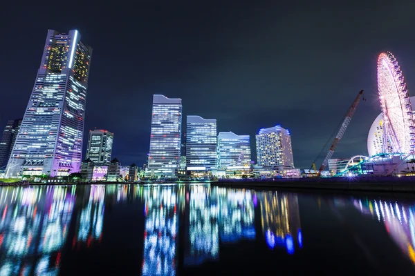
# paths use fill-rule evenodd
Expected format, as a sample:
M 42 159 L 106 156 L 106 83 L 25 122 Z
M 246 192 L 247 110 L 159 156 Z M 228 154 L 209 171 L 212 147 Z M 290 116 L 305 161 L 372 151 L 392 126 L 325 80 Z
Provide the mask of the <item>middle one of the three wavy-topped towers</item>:
M 216 135 L 216 119 L 187 116 L 187 171 L 209 173 L 216 169 Z

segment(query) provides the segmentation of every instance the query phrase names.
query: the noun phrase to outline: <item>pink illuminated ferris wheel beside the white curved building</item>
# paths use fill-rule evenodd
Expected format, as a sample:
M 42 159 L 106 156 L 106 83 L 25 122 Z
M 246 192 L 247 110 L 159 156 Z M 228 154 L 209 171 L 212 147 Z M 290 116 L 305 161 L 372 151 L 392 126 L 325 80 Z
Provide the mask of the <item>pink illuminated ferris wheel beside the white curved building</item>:
M 391 52 L 378 57 L 378 90 L 383 115 L 384 142 L 393 152 L 414 153 L 414 117 L 411 101 L 398 61 Z

